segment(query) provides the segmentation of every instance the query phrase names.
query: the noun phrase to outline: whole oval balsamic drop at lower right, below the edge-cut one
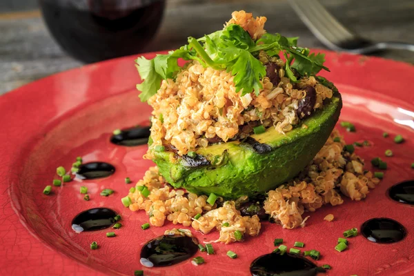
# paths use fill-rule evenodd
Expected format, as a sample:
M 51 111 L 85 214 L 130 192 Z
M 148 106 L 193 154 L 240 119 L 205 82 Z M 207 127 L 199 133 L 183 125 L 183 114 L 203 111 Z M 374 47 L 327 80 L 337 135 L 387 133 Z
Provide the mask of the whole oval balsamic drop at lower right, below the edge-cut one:
M 361 233 L 371 242 L 391 244 L 400 242 L 407 235 L 407 230 L 394 219 L 380 217 L 369 219 L 361 226 Z

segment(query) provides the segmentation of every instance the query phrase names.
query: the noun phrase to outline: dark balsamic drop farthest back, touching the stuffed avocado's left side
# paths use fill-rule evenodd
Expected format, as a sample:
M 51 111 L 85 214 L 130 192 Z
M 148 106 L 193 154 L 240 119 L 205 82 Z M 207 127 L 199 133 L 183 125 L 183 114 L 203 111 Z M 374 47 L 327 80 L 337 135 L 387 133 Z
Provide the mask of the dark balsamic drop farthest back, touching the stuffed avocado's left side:
M 120 134 L 112 135 L 110 142 L 119 146 L 140 146 L 148 144 L 150 126 L 135 126 L 121 130 Z

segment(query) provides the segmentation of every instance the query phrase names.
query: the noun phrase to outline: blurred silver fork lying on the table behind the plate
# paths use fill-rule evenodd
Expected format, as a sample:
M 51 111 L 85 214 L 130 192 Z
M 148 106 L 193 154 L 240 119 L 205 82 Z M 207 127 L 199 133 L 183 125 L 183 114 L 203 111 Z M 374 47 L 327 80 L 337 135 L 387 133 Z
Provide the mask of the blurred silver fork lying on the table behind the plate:
M 331 50 L 368 54 L 384 49 L 414 51 L 414 45 L 404 42 L 374 42 L 359 37 L 345 28 L 317 0 L 289 0 L 290 6 L 326 47 Z

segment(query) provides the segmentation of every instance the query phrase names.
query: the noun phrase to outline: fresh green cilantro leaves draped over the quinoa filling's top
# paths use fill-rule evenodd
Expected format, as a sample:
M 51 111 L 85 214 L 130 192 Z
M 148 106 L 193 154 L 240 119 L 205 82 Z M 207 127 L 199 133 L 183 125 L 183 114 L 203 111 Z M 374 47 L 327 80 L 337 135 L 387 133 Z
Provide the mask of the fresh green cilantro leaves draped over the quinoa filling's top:
M 280 53 L 286 59 L 286 76 L 297 81 L 295 71 L 301 76 L 315 75 L 320 70 L 328 70 L 323 64 L 324 54 L 310 53 L 308 48 L 297 47 L 297 37 L 283 37 L 280 34 L 264 34 L 253 41 L 241 26 L 230 24 L 224 30 L 205 35 L 200 39 L 188 38 L 188 44 L 169 52 L 157 55 L 154 59 L 140 57 L 136 60 L 137 69 L 144 81 L 137 85 L 141 90 L 141 101 L 147 101 L 157 93 L 163 79 L 174 79 L 181 67 L 178 59 L 197 60 L 204 67 L 231 72 L 236 91 L 242 96 L 250 92 L 256 95 L 262 89 L 262 79 L 266 67 L 257 59 L 260 51 L 270 57 Z

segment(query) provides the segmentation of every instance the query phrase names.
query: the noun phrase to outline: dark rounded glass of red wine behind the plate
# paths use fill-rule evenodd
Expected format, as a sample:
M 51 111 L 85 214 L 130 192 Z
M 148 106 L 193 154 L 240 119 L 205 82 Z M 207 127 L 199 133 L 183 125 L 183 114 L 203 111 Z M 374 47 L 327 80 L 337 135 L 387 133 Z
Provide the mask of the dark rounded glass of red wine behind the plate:
M 86 63 L 141 52 L 157 32 L 165 0 L 39 0 L 63 50 Z

